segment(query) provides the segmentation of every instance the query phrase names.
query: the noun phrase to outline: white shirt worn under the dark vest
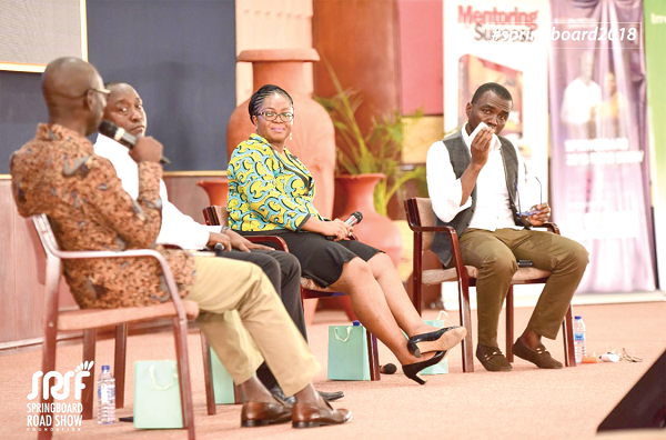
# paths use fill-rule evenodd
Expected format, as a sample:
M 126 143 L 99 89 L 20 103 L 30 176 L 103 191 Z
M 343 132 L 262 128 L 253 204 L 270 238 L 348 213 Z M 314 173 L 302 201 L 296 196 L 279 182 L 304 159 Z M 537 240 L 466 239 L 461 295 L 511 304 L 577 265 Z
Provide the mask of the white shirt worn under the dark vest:
M 465 123 L 462 129 L 462 136 L 467 149 L 472 146 L 472 140 L 466 131 Z M 534 203 L 531 203 L 531 197 L 527 194 L 525 184 L 525 163 L 518 149 L 512 143 L 518 158 L 518 191 L 517 197 L 523 194 L 521 208 L 526 211 Z M 471 153 L 470 153 L 471 154 Z M 440 220 L 451 222 L 458 212 L 472 206 L 472 196 L 461 206 L 463 198 L 463 187 L 460 179 L 455 178 L 453 166 L 448 158 L 448 149 L 443 141 L 433 143 L 427 151 L 426 159 L 427 190 L 433 210 Z M 504 162 L 500 149 L 491 149 L 488 161 L 482 168 L 476 179 L 476 210 L 468 228 L 485 229 L 495 231 L 502 228 L 523 229 L 515 224 L 511 206 L 508 202 L 508 190 L 506 188 L 506 178 Z M 515 200 L 516 207 L 518 200 Z

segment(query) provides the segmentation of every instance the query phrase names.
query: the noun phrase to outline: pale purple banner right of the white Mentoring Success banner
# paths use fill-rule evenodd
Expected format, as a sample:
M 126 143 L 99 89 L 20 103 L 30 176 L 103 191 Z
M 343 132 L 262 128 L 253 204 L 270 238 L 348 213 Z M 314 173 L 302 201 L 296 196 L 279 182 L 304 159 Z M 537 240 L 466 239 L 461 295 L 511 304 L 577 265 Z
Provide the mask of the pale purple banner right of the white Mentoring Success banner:
M 591 253 L 581 291 L 655 289 L 642 6 L 552 3 L 552 199 Z

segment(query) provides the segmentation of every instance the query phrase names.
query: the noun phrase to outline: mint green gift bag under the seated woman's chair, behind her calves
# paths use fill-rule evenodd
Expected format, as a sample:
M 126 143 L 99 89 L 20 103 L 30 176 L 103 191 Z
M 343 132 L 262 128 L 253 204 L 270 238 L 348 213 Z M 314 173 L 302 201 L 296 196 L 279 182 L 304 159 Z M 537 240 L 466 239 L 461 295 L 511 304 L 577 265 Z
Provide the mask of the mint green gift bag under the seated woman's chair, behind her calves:
M 370 380 L 369 362 L 363 326 L 329 327 L 329 380 Z

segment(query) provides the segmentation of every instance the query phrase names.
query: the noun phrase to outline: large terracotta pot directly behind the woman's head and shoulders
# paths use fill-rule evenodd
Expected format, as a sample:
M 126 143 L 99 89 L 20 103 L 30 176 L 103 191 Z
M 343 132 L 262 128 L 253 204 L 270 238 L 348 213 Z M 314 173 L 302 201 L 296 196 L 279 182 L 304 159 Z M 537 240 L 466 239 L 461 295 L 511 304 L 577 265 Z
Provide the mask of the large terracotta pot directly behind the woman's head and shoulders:
M 305 163 L 316 182 L 314 206 L 323 216 L 331 217 L 335 172 L 333 121 L 303 88 L 303 64 L 319 60 L 314 49 L 244 50 L 238 58 L 240 62 L 252 63 L 254 90 L 264 84 L 275 84 L 293 98 L 295 119 L 292 140 L 286 142 L 286 147 Z M 228 158 L 240 142 L 254 132 L 248 113 L 249 102 L 240 104 L 229 119 Z

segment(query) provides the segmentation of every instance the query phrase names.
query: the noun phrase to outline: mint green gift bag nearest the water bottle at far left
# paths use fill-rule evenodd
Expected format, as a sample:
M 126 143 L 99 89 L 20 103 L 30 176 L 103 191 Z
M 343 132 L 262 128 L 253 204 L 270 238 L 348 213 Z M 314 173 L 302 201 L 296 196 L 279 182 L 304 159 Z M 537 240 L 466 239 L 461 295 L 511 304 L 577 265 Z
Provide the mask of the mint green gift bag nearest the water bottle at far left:
M 175 361 L 134 362 L 134 428 L 183 427 Z

